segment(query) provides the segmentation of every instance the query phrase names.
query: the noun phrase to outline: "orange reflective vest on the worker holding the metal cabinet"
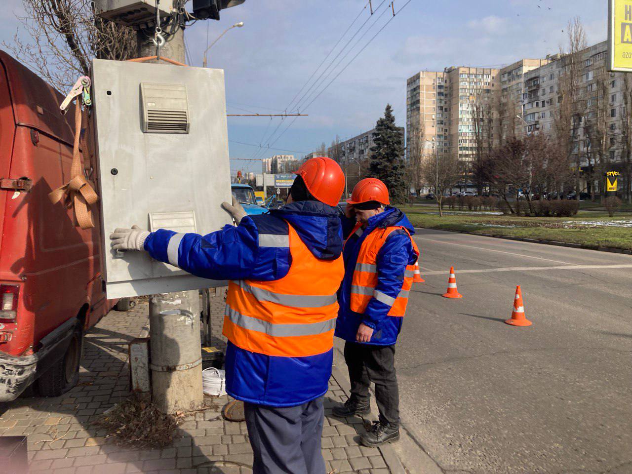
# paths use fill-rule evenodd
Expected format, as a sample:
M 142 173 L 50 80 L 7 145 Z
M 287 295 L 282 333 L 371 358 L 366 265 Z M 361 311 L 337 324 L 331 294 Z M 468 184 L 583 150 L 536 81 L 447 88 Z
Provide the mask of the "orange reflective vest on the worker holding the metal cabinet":
M 334 344 L 343 257 L 314 257 L 288 226 L 288 236 L 275 236 L 285 240 L 284 246 L 289 240 L 292 264 L 288 274 L 275 281 L 231 281 L 223 334 L 234 345 L 258 354 L 322 354 Z

